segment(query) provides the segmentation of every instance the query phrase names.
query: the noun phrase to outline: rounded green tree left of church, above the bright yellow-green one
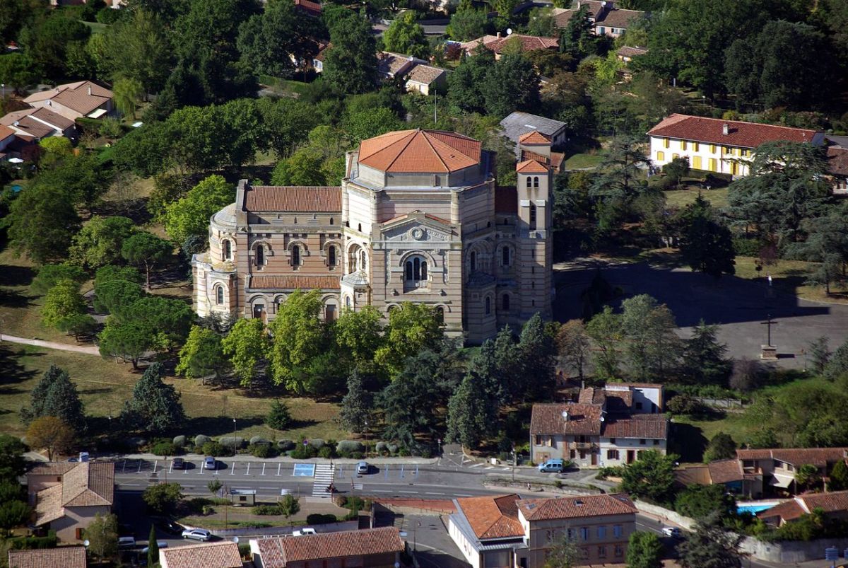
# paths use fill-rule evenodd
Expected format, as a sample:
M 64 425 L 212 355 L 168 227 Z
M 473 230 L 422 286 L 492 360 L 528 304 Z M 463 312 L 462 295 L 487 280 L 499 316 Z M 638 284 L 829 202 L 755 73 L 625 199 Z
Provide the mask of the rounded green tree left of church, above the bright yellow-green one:
M 121 246 L 135 230 L 136 223 L 127 217 L 92 217 L 74 235 L 70 260 L 88 269 L 114 264 L 120 259 Z

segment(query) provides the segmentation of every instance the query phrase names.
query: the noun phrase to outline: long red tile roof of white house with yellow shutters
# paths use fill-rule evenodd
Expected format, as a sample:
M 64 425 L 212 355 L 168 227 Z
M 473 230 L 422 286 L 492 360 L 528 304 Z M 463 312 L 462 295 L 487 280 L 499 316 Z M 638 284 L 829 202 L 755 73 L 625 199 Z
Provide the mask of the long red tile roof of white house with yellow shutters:
M 724 125 L 728 125 L 728 134 L 723 133 Z M 661 138 L 755 149 L 762 143 L 778 140 L 812 142 L 817 132 L 804 128 L 775 127 L 770 124 L 674 114 L 651 128 L 648 134 Z

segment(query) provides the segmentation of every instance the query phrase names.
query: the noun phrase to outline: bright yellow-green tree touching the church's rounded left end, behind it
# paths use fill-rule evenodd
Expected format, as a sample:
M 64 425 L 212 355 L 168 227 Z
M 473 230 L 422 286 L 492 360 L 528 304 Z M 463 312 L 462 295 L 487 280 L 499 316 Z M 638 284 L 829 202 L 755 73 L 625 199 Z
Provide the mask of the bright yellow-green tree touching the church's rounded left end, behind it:
M 209 176 L 165 208 L 165 230 L 181 243 L 190 235 L 209 232 L 209 217 L 234 200 L 232 186 L 221 176 Z

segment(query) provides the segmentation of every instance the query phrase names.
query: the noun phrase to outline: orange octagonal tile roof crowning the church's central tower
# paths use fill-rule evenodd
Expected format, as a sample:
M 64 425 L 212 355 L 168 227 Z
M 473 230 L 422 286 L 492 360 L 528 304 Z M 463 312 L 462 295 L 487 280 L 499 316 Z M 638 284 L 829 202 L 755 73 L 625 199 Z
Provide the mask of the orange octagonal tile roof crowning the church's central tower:
M 360 164 L 382 172 L 447 173 L 480 163 L 481 143 L 455 132 L 401 130 L 360 143 Z

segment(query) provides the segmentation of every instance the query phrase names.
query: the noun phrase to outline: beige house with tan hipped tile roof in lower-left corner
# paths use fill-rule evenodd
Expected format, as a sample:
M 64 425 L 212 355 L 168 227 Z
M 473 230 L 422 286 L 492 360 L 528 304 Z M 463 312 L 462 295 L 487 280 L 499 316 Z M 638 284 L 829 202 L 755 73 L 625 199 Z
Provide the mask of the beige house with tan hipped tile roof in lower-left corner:
M 114 464 L 47 462 L 26 474 L 35 526 L 56 531 L 63 542 L 81 541 L 95 515 L 109 515 L 114 503 Z

